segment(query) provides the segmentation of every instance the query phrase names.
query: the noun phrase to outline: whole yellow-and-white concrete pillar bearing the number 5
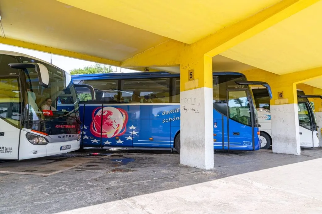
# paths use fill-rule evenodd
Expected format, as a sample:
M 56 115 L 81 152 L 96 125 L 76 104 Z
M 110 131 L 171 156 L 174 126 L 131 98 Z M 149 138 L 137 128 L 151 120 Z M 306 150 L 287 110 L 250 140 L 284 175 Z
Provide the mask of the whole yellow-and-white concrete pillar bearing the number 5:
M 213 168 L 212 57 L 185 57 L 180 64 L 180 163 Z

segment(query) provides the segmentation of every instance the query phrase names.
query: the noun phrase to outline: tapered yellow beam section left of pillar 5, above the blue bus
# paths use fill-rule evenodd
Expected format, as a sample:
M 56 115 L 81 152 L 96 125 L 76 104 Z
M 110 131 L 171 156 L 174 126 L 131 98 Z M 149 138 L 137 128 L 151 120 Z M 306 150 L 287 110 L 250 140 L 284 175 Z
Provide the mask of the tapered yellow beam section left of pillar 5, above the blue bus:
M 180 64 L 180 54 L 187 46 L 172 39 L 151 47 L 121 62 L 121 67 L 171 66 Z

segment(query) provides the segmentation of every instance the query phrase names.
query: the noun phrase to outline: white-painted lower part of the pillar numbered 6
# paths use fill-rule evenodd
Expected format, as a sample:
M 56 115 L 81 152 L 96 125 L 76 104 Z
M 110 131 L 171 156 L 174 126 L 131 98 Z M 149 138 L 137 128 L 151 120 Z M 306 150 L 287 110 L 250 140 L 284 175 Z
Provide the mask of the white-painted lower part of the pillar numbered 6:
M 273 152 L 300 155 L 298 105 L 272 105 L 270 113 Z

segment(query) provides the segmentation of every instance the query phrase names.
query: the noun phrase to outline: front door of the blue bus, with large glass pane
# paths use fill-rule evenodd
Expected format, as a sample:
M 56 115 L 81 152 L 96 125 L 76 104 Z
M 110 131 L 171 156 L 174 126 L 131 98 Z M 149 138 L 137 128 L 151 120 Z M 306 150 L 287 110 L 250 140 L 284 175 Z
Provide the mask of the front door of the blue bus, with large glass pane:
M 254 127 L 251 98 L 246 89 L 227 89 L 228 142 L 225 150 L 253 150 Z

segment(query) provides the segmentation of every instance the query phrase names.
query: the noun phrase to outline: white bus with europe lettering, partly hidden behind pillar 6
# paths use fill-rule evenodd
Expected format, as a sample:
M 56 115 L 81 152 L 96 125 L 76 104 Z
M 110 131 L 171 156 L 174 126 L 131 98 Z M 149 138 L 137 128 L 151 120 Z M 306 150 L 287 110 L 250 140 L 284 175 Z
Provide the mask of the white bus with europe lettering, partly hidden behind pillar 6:
M 269 149 L 272 144 L 270 125 L 270 97 L 266 89 L 252 87 L 255 105 L 260 124 L 260 149 Z M 297 90 L 298 95 L 298 123 L 301 147 L 318 147 L 317 122 L 308 98 L 321 98 L 318 95 L 305 95 Z

